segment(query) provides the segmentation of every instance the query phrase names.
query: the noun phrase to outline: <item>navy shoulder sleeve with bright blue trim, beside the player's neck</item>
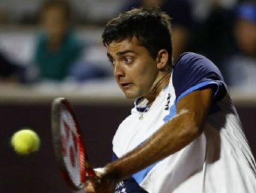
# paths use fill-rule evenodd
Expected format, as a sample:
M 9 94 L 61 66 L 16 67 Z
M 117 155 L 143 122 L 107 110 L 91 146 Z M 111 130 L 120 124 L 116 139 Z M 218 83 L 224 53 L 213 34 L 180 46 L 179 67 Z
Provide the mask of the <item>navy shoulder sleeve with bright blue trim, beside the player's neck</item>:
M 226 83 L 221 72 L 212 61 L 200 54 L 182 54 L 174 65 L 172 76 L 176 103 L 186 94 L 208 86 L 214 89 L 214 102 L 221 100 L 226 94 Z

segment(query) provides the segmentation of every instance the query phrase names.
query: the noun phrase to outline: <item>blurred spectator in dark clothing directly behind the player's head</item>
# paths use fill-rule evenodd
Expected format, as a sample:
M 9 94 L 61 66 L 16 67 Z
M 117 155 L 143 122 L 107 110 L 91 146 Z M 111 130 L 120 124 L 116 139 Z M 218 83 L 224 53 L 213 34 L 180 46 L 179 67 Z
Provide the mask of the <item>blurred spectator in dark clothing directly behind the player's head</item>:
M 188 51 L 192 39 L 192 5 L 190 0 L 133 0 L 127 1 L 123 10 L 158 6 L 172 17 L 172 44 L 174 61 L 182 52 Z

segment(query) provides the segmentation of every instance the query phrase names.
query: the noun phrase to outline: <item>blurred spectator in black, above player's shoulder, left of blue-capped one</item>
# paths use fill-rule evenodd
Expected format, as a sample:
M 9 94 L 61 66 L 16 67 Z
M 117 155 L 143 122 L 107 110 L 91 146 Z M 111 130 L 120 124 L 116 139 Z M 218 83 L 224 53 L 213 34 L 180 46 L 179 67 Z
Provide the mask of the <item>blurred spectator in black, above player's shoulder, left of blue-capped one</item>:
M 211 59 L 219 68 L 220 62 L 232 52 L 232 26 L 237 0 L 193 1 L 194 43 L 192 51 Z

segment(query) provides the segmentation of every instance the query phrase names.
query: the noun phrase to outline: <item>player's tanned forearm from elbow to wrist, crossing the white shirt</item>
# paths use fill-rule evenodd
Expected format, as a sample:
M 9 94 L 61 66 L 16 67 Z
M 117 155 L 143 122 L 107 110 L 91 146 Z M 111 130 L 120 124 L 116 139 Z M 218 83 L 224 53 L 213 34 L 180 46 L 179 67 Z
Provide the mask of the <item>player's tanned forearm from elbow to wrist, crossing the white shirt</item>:
M 197 136 L 193 115 L 184 110 L 165 123 L 145 143 L 105 167 L 104 177 L 120 180 L 142 170 L 174 152 L 181 150 Z M 190 120 L 191 119 L 191 120 Z

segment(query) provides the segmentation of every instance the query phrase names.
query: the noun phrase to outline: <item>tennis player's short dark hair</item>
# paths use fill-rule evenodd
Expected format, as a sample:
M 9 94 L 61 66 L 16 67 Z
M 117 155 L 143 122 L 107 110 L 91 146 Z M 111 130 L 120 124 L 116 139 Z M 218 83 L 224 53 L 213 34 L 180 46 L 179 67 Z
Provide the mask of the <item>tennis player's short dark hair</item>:
M 149 50 L 153 59 L 156 59 L 161 49 L 167 50 L 172 56 L 171 19 L 157 7 L 133 8 L 121 12 L 105 26 L 102 42 L 108 46 L 113 41 L 131 40 L 133 37 Z M 171 59 L 168 64 L 172 65 Z

